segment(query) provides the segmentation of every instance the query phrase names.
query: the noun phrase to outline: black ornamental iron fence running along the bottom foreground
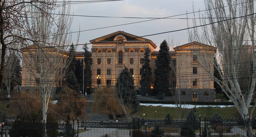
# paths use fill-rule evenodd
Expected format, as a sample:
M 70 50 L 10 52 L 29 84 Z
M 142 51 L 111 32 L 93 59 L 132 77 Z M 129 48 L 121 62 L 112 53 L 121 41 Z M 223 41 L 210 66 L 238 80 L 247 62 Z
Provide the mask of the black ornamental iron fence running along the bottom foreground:
M 70 124 L 16 121 L 0 127 L 0 137 L 249 137 L 249 132 L 256 137 L 256 120 L 206 117 L 170 121 L 134 117 L 131 122 L 73 119 Z

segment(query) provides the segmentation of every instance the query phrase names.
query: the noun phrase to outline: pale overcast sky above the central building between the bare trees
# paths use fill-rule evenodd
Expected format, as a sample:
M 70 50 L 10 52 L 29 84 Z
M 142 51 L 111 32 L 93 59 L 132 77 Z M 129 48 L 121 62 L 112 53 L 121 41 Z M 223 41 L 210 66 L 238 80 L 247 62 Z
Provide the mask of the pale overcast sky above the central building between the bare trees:
M 186 12 L 192 12 L 194 4 L 195 11 L 204 10 L 203 0 L 122 0 L 114 2 L 96 2 L 84 4 L 71 4 L 71 14 L 89 15 L 89 16 L 112 16 L 112 17 L 139 17 L 139 18 L 164 18 L 173 15 L 180 15 Z M 193 15 L 189 15 L 192 17 Z M 180 15 L 173 18 L 186 18 L 186 15 Z M 72 31 L 79 31 L 79 44 L 89 43 L 89 40 L 99 38 L 116 31 L 124 31 L 137 36 L 174 31 L 187 27 L 185 19 L 158 19 L 135 24 L 127 24 L 150 19 L 130 19 L 130 18 L 96 18 L 96 17 L 73 17 Z M 114 25 L 118 27 L 110 27 Z M 190 24 L 192 26 L 192 24 Z M 110 27 L 98 29 L 102 27 Z M 85 31 L 89 29 L 96 29 Z M 72 35 L 75 43 L 76 34 Z M 152 40 L 159 49 L 163 40 L 174 40 L 175 46 L 188 43 L 187 31 L 178 31 L 174 33 L 165 33 L 144 37 Z M 88 44 L 91 50 L 91 44 Z M 81 51 L 78 47 L 78 51 Z M 157 50 L 158 50 L 157 49 Z

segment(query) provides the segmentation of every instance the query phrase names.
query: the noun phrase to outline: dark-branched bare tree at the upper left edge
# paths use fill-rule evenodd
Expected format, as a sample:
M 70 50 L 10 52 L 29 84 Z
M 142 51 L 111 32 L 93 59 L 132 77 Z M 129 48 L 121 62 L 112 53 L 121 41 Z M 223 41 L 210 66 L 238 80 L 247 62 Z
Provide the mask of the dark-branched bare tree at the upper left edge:
M 1 90 L 5 86 L 3 80 L 6 70 L 5 58 L 7 50 L 16 50 L 18 47 L 27 46 L 32 42 L 30 37 L 32 30 L 29 29 L 26 23 L 29 18 L 33 18 L 30 16 L 31 12 L 27 8 L 30 6 L 38 9 L 40 13 L 48 13 L 48 9 L 57 7 L 55 0 L 0 0 Z

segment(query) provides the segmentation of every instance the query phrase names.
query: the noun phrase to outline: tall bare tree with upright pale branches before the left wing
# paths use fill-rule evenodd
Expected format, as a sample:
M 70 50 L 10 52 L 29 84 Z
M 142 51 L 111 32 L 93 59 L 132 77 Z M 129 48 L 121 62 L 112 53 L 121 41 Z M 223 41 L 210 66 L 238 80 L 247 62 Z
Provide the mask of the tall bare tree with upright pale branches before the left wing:
M 46 122 L 52 91 L 56 87 L 61 87 L 64 79 L 68 47 L 65 45 L 71 44 L 72 18 L 66 16 L 69 14 L 70 6 L 64 1 L 58 9 L 55 4 L 46 8 L 37 2 L 27 7 L 27 11 L 30 11 L 31 18 L 26 18 L 26 26 L 30 30 L 30 39 L 34 44 L 23 48 L 23 66 L 27 69 L 25 73 L 40 87 L 43 104 L 42 122 Z M 51 14 L 55 11 L 59 15 Z

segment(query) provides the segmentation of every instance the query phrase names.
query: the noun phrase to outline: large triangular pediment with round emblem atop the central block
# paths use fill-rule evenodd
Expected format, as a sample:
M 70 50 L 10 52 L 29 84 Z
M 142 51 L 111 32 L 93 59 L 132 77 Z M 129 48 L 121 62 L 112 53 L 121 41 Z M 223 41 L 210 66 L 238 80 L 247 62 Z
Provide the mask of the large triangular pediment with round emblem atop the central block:
M 90 40 L 90 42 L 91 43 L 93 43 L 93 42 L 113 42 L 113 41 L 115 41 L 115 38 L 118 35 L 123 35 L 125 37 L 125 39 L 122 39 L 122 40 L 124 40 L 124 41 L 148 41 L 148 42 L 151 41 L 151 40 L 148 40 L 146 38 L 141 38 L 139 36 L 136 36 L 136 35 L 133 35 L 133 34 L 130 34 L 130 33 L 126 33 L 124 31 L 117 31 L 117 32 L 114 32 L 114 33 L 104 35 L 102 37 Z

